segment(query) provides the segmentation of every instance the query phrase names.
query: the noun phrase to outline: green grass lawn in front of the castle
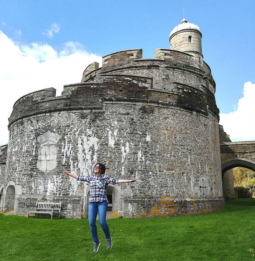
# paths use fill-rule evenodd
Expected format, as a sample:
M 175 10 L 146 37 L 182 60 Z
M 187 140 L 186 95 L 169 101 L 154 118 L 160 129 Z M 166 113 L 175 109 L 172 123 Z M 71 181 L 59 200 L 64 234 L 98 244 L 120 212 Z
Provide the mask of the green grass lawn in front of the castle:
M 225 211 L 173 218 L 107 220 L 113 247 L 93 254 L 87 219 L 0 214 L 0 260 L 255 260 L 255 198 L 226 202 Z M 255 251 L 255 250 L 254 250 Z

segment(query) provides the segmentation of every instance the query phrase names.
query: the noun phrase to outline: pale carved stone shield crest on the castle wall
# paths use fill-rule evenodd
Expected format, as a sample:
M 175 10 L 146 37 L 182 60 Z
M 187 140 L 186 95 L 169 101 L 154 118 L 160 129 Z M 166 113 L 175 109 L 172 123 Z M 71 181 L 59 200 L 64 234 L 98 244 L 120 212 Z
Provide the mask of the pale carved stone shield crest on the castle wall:
M 59 139 L 60 135 L 50 131 L 37 138 L 41 144 L 38 150 L 37 168 L 45 174 L 57 166 L 57 142 Z

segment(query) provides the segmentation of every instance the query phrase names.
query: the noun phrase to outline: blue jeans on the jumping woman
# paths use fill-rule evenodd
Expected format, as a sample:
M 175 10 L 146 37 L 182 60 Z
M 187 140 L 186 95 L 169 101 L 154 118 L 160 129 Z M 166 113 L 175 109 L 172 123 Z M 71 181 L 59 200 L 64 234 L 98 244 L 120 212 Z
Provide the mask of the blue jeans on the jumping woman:
M 98 241 L 97 226 L 96 226 L 97 211 L 98 211 L 99 224 L 104 231 L 105 238 L 111 237 L 109 227 L 106 223 L 107 205 L 108 204 L 105 200 L 103 202 L 99 202 L 99 201 L 89 202 L 88 204 L 88 222 L 89 222 L 90 231 L 94 242 Z

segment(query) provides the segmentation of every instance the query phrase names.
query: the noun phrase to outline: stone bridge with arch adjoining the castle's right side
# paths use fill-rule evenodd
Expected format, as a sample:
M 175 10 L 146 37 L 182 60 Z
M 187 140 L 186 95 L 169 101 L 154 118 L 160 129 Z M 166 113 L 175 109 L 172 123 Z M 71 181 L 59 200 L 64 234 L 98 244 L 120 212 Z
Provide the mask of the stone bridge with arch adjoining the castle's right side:
M 235 198 L 232 168 L 243 167 L 255 171 L 255 141 L 220 143 L 223 195 Z

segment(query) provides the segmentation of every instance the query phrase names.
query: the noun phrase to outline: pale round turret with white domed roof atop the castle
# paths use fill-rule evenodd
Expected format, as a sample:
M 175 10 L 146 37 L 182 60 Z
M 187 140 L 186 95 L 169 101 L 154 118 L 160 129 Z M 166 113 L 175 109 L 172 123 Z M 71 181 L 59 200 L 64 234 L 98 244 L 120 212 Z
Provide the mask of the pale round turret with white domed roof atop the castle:
M 170 33 L 169 42 L 172 50 L 193 55 L 202 64 L 202 33 L 197 25 L 183 18 Z

